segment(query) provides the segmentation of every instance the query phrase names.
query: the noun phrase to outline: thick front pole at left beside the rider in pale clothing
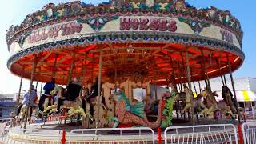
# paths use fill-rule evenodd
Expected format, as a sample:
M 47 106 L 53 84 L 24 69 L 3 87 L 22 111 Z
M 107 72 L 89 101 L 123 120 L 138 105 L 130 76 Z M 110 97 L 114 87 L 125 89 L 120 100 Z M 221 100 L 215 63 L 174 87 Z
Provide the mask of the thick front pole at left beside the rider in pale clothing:
M 32 68 L 32 71 L 31 71 L 31 78 L 30 78 L 30 90 L 28 91 L 29 92 L 29 98 L 28 98 L 28 106 L 26 108 L 26 116 L 25 116 L 24 129 L 26 129 L 27 117 L 28 117 L 29 110 L 30 110 L 31 86 L 33 85 L 34 73 L 35 73 L 37 64 L 38 64 L 38 57 L 37 57 L 37 55 L 34 55 L 33 68 Z

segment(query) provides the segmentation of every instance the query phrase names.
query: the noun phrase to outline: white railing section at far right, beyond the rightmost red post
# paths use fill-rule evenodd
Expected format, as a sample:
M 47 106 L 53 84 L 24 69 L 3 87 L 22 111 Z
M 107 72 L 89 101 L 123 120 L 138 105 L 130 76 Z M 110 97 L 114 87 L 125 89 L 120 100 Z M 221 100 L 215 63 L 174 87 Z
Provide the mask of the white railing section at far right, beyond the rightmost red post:
M 245 144 L 256 143 L 256 122 L 243 123 L 242 136 Z

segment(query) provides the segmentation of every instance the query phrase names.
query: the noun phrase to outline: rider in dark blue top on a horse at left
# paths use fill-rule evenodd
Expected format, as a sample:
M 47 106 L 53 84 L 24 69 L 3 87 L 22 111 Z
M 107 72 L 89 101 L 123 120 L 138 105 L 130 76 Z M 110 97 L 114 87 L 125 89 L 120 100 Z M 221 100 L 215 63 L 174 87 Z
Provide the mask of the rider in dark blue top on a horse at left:
M 39 110 L 40 111 L 43 111 L 43 103 L 45 102 L 46 98 L 47 97 L 50 97 L 51 98 L 51 94 L 50 92 L 52 90 L 54 90 L 54 87 L 55 87 L 55 78 L 51 78 L 51 81 L 50 82 L 47 82 L 45 86 L 43 86 L 43 90 L 45 91 L 44 94 L 42 94 L 42 96 L 40 97 L 40 100 L 39 100 L 39 104 L 38 104 L 38 107 L 39 107 Z M 51 99 L 50 99 L 51 100 Z M 49 100 L 49 103 L 50 103 L 50 100 Z

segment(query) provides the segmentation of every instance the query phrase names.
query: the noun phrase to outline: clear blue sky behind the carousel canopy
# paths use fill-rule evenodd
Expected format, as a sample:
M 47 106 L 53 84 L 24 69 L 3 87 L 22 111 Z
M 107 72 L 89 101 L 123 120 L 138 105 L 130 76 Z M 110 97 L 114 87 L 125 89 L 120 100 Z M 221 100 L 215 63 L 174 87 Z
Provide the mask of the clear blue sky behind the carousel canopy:
M 105 0 L 106 2 L 107 0 Z M 6 30 L 11 25 L 19 25 L 26 14 L 31 14 L 36 10 L 41 10 L 49 2 L 70 2 L 70 0 L 2 0 L 0 9 L 0 93 L 16 93 L 20 78 L 14 76 L 6 67 L 9 52 L 6 46 Z M 100 0 L 82 0 L 82 2 L 98 4 Z M 242 67 L 234 73 L 235 77 L 256 78 L 256 12 L 255 0 L 186 0 L 196 7 L 215 6 L 222 10 L 230 10 L 231 13 L 242 23 L 244 31 L 242 50 L 246 54 L 246 60 Z M 23 82 L 22 89 L 27 89 L 28 81 Z

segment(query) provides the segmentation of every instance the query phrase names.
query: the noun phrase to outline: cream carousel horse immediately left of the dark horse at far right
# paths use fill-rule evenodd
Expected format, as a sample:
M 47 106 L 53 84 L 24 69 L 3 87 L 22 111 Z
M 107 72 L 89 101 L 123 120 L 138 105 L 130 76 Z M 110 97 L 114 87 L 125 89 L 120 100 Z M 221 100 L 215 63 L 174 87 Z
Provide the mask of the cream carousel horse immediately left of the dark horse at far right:
M 206 88 L 205 90 L 202 90 L 202 96 L 206 98 L 206 108 L 202 110 L 201 114 L 213 117 L 214 112 L 218 110 L 218 104 L 215 99 L 216 93 L 213 93 L 209 88 Z

